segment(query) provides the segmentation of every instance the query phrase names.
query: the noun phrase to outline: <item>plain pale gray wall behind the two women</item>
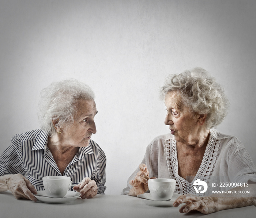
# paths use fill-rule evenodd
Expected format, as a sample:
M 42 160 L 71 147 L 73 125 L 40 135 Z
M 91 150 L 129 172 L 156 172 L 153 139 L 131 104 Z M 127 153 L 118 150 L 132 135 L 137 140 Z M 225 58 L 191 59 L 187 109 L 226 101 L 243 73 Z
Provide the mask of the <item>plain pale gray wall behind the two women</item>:
M 255 0 L 1 0 L 0 153 L 14 134 L 39 128 L 42 88 L 79 79 L 96 94 L 92 139 L 108 159 L 106 194 L 120 194 L 146 146 L 169 133 L 165 77 L 200 66 L 231 103 L 217 129 L 256 164 L 255 11 Z

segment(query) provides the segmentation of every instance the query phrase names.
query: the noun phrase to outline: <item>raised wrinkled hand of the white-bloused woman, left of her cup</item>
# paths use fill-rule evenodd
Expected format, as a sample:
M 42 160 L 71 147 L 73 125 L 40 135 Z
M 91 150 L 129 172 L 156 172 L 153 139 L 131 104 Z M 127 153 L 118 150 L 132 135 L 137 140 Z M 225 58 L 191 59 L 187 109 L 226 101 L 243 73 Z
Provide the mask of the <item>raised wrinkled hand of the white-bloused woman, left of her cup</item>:
M 148 177 L 148 169 L 145 164 L 139 165 L 140 171 L 137 173 L 135 178 L 129 181 L 129 184 L 133 186 L 129 191 L 129 195 L 137 196 L 145 193 L 148 190 L 147 180 L 155 177 Z

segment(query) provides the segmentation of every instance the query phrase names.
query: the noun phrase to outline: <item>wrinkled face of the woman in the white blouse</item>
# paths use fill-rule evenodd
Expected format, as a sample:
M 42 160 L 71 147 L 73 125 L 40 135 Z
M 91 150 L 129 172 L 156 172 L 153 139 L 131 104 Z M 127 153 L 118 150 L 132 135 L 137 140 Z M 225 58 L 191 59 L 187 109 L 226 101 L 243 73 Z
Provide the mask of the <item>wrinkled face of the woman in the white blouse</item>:
M 188 107 L 181 102 L 181 96 L 176 91 L 165 96 L 167 110 L 165 125 L 169 125 L 171 134 L 177 142 L 191 144 L 199 130 L 195 114 L 189 112 Z

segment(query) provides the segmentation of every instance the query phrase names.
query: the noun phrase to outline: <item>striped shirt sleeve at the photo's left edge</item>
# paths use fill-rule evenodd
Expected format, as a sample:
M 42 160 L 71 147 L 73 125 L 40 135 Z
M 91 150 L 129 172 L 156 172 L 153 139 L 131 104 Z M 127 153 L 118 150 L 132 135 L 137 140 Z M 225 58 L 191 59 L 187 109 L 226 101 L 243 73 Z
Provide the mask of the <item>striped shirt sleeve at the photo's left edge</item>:
M 18 173 L 24 175 L 20 144 L 19 138 L 14 136 L 12 144 L 0 156 L 0 176 Z

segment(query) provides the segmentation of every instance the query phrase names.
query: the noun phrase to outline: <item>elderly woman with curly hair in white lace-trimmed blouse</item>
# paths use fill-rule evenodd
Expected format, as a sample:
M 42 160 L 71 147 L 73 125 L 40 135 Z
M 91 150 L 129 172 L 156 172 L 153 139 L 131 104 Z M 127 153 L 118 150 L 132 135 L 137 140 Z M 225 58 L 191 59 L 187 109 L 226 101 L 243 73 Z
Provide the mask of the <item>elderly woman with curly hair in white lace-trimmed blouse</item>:
M 170 134 L 155 138 L 147 146 L 144 159 L 128 179 L 123 194 L 143 194 L 148 191 L 147 180 L 152 177 L 171 178 L 176 180 L 175 193 L 181 194 L 173 205 L 185 203 L 181 213 L 198 210 L 207 214 L 256 206 L 256 188 L 251 184 L 256 182 L 256 168 L 244 145 L 236 137 L 213 129 L 227 115 L 229 103 L 223 88 L 206 70 L 195 68 L 169 75 L 161 96 Z M 208 189 L 197 193 L 194 186 L 202 181 Z M 231 188 L 233 193 L 212 192 Z M 236 192 L 243 190 L 251 192 Z

